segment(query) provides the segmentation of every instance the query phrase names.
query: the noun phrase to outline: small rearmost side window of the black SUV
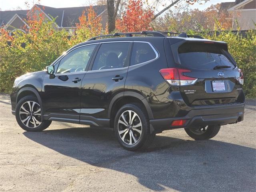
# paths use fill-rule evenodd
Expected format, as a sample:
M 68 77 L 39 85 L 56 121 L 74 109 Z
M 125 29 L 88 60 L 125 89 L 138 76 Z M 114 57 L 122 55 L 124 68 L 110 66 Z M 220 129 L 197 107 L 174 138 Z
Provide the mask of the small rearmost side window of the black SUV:
M 131 66 L 156 58 L 156 53 L 147 42 L 134 42 L 132 46 Z

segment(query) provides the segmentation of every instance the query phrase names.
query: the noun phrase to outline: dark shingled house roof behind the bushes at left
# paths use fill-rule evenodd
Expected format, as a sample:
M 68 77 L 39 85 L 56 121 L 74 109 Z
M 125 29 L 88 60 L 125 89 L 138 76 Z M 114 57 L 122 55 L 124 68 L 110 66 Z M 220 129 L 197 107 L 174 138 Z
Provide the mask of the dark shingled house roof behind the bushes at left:
M 53 8 L 48 6 L 43 6 L 35 4 L 40 8 L 48 18 L 56 18 L 55 22 L 58 27 L 75 27 L 76 23 L 79 23 L 79 17 L 82 15 L 84 10 L 88 10 L 90 6 L 83 7 L 67 7 L 67 8 Z M 102 14 L 106 11 L 106 5 L 92 6 L 97 15 Z M 6 25 L 15 14 L 18 14 L 22 20 L 26 19 L 27 13 L 30 10 L 14 10 L 14 11 L 0 11 L 0 26 Z M 87 16 L 87 12 L 85 12 Z

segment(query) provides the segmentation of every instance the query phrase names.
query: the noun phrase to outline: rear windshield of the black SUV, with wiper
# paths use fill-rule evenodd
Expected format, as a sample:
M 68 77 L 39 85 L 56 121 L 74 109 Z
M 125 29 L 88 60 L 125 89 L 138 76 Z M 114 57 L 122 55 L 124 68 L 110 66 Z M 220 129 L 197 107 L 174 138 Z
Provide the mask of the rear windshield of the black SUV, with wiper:
M 235 67 L 227 57 L 228 52 L 216 44 L 185 43 L 178 48 L 178 53 L 181 65 L 188 68 L 212 70 L 216 66 L 226 66 L 222 70 L 228 70 Z

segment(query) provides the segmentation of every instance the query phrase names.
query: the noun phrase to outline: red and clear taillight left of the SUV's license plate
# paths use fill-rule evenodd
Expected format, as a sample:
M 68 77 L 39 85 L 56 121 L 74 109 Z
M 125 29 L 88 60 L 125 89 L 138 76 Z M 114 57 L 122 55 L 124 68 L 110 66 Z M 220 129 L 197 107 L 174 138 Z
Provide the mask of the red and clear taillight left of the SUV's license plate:
M 187 69 L 166 68 L 161 69 L 160 73 L 163 78 L 171 85 L 192 85 L 196 82 L 196 78 L 185 76 L 184 72 L 191 72 Z

